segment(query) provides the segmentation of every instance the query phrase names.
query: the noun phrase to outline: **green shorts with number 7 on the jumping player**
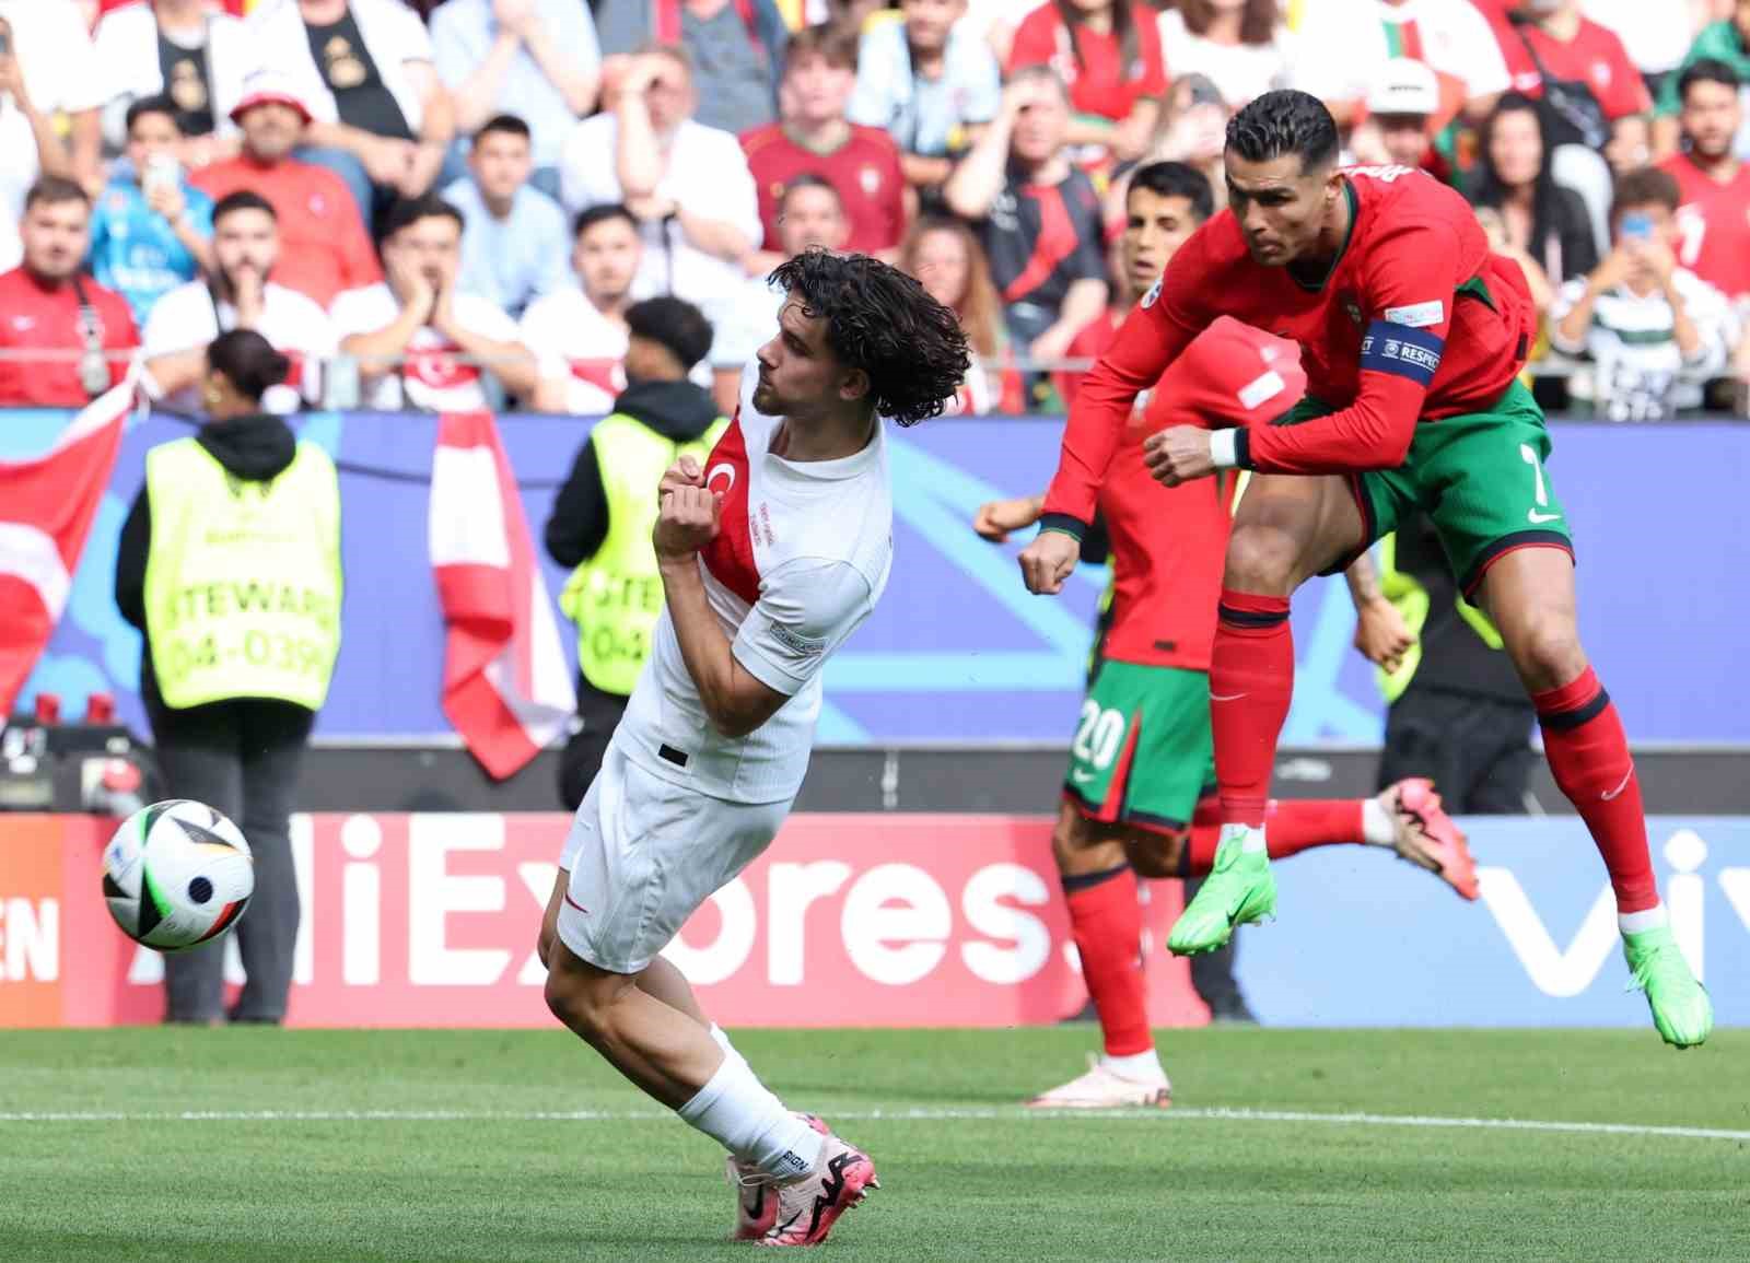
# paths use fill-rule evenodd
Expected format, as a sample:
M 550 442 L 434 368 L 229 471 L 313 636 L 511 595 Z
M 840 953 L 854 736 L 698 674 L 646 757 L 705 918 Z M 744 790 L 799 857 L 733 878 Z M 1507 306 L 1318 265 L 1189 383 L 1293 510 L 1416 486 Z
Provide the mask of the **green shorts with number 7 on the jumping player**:
M 1302 399 L 1278 425 L 1332 411 Z M 1572 555 L 1568 520 L 1544 472 L 1549 451 L 1544 409 L 1517 381 L 1488 411 L 1421 422 L 1402 465 L 1349 476 L 1367 544 L 1396 530 L 1409 511 L 1424 511 L 1465 595 L 1494 558 L 1516 548 L 1556 546 Z M 1325 574 L 1339 574 L 1353 560 L 1346 556 Z

